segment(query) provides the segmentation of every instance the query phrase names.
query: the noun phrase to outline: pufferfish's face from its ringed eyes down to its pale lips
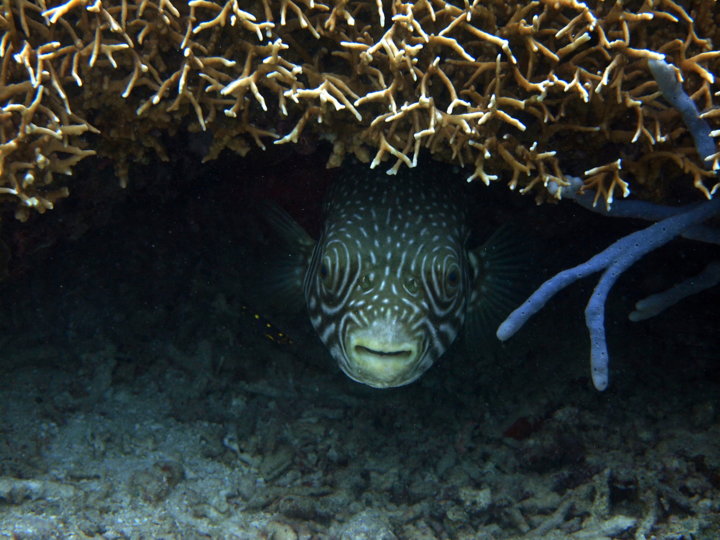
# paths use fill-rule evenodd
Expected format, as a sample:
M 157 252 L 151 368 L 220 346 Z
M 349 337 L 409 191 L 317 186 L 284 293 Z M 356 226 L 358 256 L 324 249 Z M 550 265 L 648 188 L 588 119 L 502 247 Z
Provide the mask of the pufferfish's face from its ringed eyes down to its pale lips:
M 416 380 L 455 340 L 467 287 L 461 246 L 387 246 L 340 235 L 318 242 L 305 296 L 310 320 L 343 372 L 390 388 Z

